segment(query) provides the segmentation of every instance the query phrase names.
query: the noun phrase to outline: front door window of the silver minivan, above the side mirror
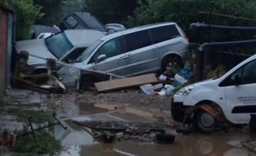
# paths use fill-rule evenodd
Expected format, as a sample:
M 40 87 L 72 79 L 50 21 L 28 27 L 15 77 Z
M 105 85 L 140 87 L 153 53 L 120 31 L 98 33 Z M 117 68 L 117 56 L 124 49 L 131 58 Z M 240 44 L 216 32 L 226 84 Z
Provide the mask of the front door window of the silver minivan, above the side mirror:
M 106 58 L 111 58 L 113 56 L 117 56 L 122 53 L 123 53 L 123 44 L 121 42 L 121 37 L 117 37 L 103 44 L 94 54 L 94 56 L 90 60 L 90 63 L 96 62 L 96 59 L 98 58 L 98 56 L 102 54 L 105 54 Z

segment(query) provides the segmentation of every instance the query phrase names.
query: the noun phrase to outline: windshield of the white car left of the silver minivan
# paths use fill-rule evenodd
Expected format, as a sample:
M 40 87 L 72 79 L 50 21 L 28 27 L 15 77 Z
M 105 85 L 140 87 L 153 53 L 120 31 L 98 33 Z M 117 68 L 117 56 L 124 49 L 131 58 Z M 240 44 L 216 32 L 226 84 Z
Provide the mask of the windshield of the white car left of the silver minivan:
M 44 41 L 47 49 L 58 59 L 73 48 L 64 32 L 47 37 Z

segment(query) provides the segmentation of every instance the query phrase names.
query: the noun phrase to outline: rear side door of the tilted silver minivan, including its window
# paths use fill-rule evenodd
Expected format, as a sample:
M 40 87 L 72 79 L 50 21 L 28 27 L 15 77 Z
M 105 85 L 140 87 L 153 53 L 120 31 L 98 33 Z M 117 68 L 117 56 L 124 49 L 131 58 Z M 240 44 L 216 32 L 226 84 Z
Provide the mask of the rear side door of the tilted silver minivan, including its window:
M 137 75 L 159 70 L 159 53 L 152 42 L 149 30 L 124 35 L 127 74 Z

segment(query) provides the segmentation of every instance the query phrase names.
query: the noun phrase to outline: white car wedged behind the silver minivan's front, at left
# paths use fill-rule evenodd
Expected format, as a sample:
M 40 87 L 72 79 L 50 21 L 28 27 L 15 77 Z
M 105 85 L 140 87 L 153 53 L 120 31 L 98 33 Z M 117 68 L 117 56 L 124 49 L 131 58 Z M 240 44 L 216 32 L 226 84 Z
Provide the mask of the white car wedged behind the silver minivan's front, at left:
M 70 29 L 55 33 L 45 39 L 16 42 L 15 48 L 18 53 L 22 50 L 26 50 L 30 52 L 30 54 L 42 58 L 54 58 L 56 60 L 69 58 L 69 60 L 63 61 L 71 62 L 101 37 L 104 37 L 102 31 L 93 29 Z M 70 52 L 72 52 L 72 56 L 66 57 Z M 37 66 L 39 64 L 46 64 L 46 62 L 40 58 L 30 56 L 28 64 Z

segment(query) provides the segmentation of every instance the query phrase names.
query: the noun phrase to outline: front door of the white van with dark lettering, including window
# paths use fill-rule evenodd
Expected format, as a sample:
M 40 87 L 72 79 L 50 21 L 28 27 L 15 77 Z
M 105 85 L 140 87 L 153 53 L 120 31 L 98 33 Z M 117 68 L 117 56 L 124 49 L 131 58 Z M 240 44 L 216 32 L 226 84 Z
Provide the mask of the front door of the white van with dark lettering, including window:
M 228 118 L 233 123 L 249 123 L 251 113 L 256 113 L 256 60 L 231 74 L 226 81 Z

